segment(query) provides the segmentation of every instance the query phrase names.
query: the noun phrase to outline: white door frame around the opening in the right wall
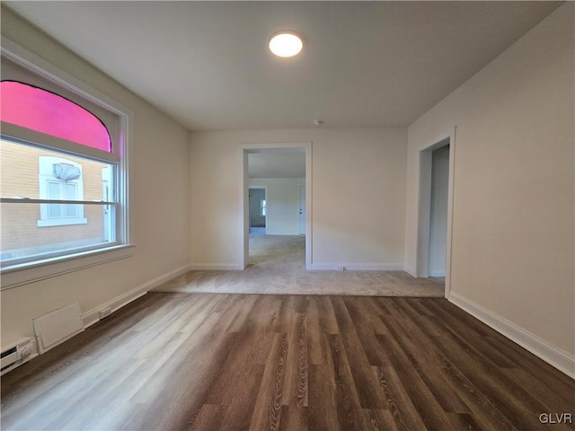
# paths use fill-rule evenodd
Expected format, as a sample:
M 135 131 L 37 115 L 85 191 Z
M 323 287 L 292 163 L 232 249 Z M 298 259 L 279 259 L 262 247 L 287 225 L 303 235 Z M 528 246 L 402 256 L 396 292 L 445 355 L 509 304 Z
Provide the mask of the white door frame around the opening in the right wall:
M 431 167 L 432 152 L 449 145 L 449 180 L 447 183 L 447 239 L 446 239 L 446 288 L 448 297 L 451 289 L 451 246 L 453 233 L 453 202 L 456 168 L 456 128 L 437 136 L 419 151 L 419 198 L 418 198 L 418 241 L 416 254 L 417 277 L 429 277 L 429 228 L 431 217 Z

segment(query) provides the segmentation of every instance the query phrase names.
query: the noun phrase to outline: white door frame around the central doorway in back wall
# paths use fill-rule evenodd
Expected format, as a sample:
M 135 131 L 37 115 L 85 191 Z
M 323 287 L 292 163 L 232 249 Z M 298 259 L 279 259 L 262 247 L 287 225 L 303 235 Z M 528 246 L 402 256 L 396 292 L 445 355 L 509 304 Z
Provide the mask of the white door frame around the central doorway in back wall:
M 266 150 L 305 150 L 305 269 L 312 268 L 312 143 L 291 142 L 277 144 L 240 144 L 240 216 L 239 268 L 247 268 L 249 258 L 250 208 L 248 201 L 248 154 Z M 267 229 L 267 227 L 266 227 Z

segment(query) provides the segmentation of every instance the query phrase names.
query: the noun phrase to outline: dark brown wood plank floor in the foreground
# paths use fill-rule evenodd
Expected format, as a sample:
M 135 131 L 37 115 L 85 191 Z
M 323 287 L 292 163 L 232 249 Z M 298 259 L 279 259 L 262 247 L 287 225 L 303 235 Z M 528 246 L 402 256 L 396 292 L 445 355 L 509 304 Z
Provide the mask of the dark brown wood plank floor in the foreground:
M 549 430 L 574 410 L 573 380 L 445 299 L 152 293 L 5 374 L 1 425 Z

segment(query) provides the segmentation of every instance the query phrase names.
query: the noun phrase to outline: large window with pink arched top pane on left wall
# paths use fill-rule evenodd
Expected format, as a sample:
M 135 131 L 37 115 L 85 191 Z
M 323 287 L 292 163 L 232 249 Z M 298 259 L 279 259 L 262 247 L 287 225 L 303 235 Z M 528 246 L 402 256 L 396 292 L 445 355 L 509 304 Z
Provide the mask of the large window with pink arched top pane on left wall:
M 4 56 L 3 48 L 3 288 L 7 276 L 10 286 L 37 279 L 17 273 L 36 268 L 39 274 L 39 265 L 42 274 L 54 275 L 133 253 L 128 114 L 82 83 L 27 65 Z

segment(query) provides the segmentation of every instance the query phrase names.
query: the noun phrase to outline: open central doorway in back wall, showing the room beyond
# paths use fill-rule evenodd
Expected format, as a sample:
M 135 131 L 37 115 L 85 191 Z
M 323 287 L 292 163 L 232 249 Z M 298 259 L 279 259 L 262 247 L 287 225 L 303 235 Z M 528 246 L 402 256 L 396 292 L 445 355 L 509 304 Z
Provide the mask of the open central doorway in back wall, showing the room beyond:
M 241 156 L 241 267 L 310 268 L 311 143 L 241 145 Z

